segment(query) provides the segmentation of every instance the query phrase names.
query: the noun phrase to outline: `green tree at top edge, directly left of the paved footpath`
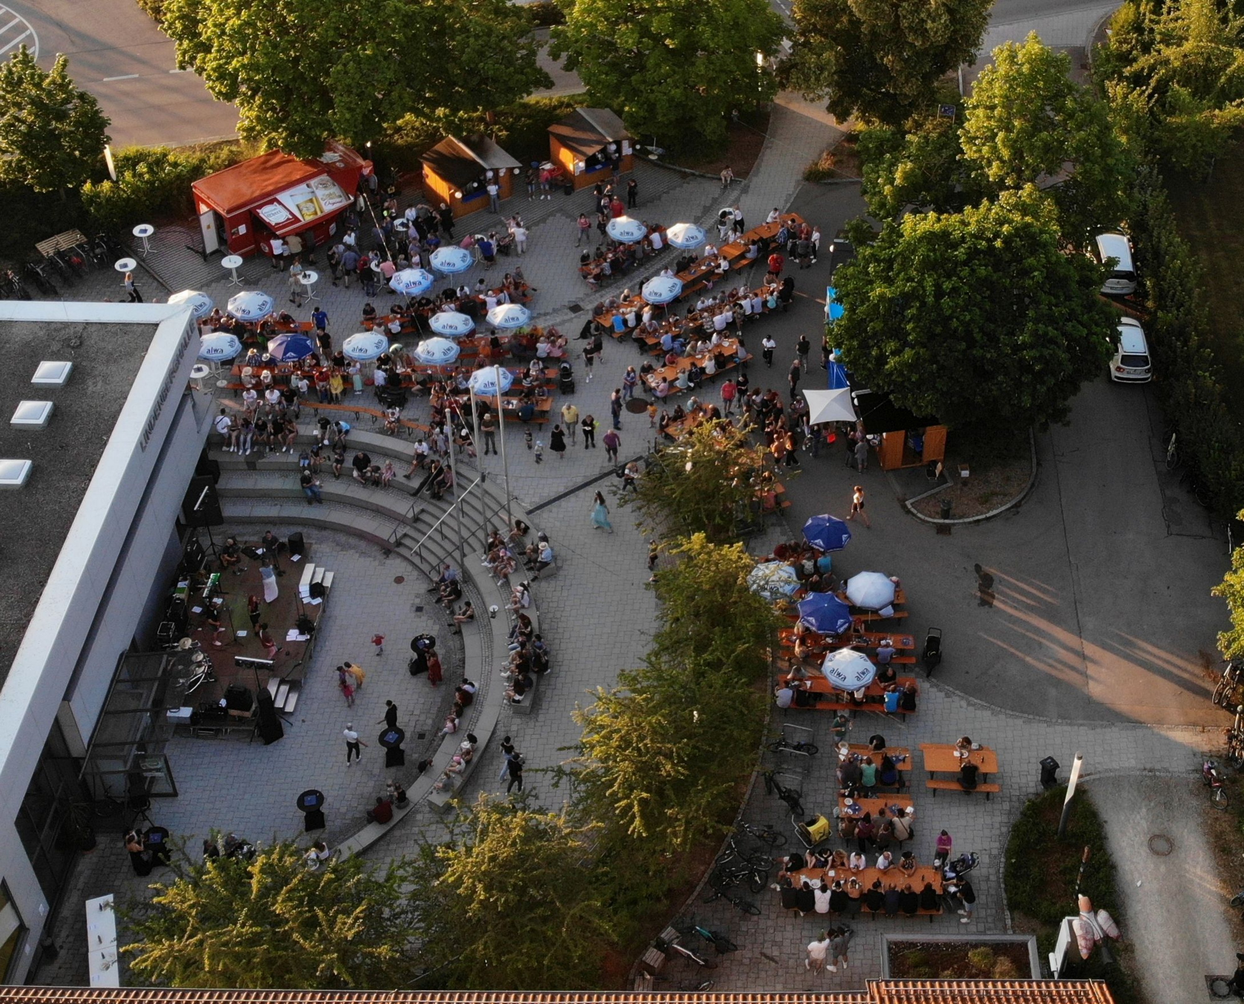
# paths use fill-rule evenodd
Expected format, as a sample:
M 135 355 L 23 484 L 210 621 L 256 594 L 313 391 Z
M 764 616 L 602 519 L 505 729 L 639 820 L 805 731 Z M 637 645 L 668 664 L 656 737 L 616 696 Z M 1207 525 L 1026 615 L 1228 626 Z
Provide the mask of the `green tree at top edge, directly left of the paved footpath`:
M 566 56 L 588 99 L 664 147 L 719 148 L 731 112 L 769 101 L 782 21 L 766 0 L 559 0 L 566 24 L 550 53 Z

